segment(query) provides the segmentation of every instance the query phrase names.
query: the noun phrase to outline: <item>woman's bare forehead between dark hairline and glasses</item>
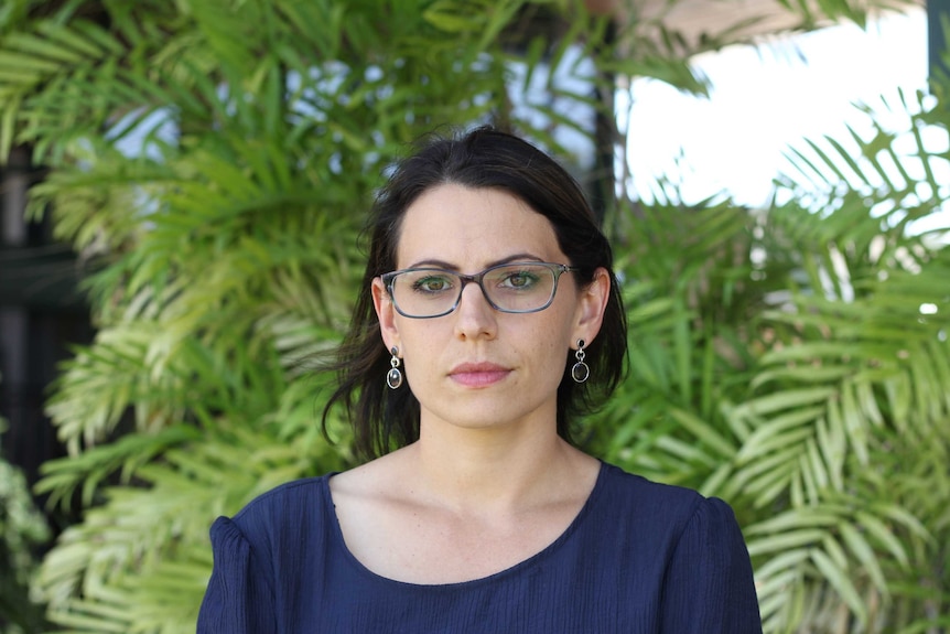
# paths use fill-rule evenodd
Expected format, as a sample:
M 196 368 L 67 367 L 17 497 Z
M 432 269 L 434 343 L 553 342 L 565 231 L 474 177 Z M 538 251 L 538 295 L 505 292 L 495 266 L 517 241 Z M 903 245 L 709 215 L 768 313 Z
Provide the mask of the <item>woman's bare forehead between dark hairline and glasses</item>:
M 512 256 L 565 262 L 551 222 L 504 190 L 433 187 L 402 218 L 397 268 L 444 262 L 481 269 Z

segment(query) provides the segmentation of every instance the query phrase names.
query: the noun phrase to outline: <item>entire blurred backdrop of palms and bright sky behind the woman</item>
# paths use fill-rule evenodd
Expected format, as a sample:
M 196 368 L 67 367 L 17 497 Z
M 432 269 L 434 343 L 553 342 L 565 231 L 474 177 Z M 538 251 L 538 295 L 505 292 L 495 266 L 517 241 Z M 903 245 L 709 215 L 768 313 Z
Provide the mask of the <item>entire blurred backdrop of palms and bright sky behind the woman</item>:
M 941 13 L 7 0 L 0 631 L 193 632 L 214 518 L 355 463 L 315 368 L 365 211 L 484 122 L 615 244 L 630 373 L 585 449 L 733 506 L 766 632 L 948 631 Z

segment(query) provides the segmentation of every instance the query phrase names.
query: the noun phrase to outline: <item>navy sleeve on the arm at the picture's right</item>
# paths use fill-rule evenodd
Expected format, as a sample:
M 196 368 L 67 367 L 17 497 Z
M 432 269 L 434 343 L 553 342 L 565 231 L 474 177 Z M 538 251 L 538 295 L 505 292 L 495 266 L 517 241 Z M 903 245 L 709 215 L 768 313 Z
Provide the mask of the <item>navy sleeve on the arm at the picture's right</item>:
M 703 499 L 667 569 L 665 634 L 762 634 L 752 563 L 730 506 Z

